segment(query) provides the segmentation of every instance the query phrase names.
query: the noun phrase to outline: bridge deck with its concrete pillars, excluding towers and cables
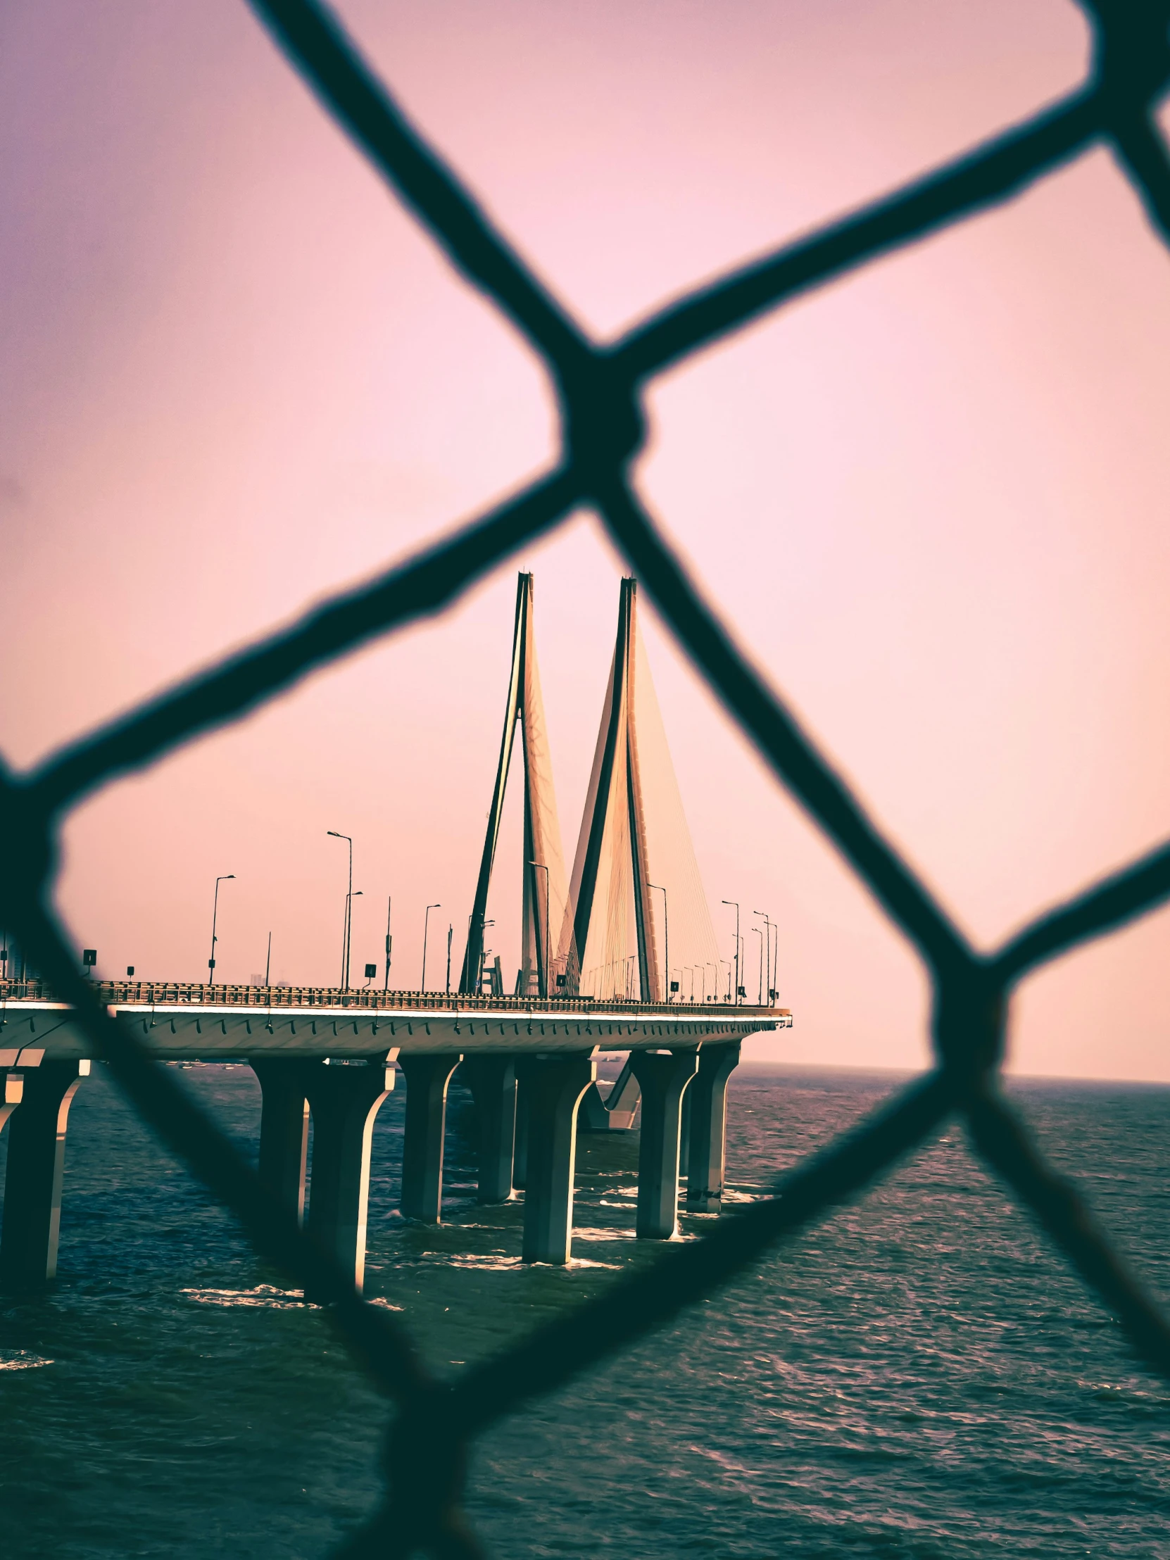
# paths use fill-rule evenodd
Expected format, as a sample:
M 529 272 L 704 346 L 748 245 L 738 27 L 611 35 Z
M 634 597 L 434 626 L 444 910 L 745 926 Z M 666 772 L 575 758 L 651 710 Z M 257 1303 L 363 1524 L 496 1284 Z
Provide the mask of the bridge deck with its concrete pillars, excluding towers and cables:
M 789 1028 L 785 1008 L 456 997 L 335 987 L 95 981 L 95 997 L 161 1061 L 248 1061 L 261 1084 L 259 1173 L 353 1271 L 365 1268 L 373 1122 L 406 1081 L 401 1207 L 438 1223 L 446 1092 L 468 1084 L 479 1137 L 479 1201 L 524 1195 L 526 1262 L 568 1262 L 577 1131 L 640 1119 L 640 1239 L 677 1229 L 679 1173 L 690 1212 L 718 1214 L 727 1080 L 741 1041 Z M 8 1125 L 0 1289 L 56 1273 L 69 1106 L 92 1047 L 73 1009 L 36 981 L 0 981 L 0 1129 Z M 627 1053 L 605 1097 L 597 1051 Z

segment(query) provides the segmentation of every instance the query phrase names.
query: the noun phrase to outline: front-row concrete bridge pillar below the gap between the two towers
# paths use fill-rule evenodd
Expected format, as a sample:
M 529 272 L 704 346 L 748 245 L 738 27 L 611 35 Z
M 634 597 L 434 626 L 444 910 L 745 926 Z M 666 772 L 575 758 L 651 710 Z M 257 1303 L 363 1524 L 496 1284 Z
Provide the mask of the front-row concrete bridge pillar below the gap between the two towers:
M 577 1106 L 597 1076 L 596 1048 L 538 1056 L 527 1072 L 529 1162 L 524 1262 L 568 1262 L 573 1245 L 573 1172 Z

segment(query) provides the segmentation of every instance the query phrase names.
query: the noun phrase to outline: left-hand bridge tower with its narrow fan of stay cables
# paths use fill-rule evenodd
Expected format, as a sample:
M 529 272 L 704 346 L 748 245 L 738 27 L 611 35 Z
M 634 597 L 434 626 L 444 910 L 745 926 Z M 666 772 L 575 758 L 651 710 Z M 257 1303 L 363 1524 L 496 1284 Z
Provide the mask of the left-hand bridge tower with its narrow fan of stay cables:
M 491 791 L 484 853 L 479 863 L 476 899 L 471 908 L 463 970 L 459 981 L 459 989 L 465 995 L 477 994 L 482 984 L 484 925 L 516 725 L 521 730 L 524 755 L 524 902 L 521 973 L 516 995 L 549 997 L 557 992 L 557 959 L 554 958 L 557 944 L 552 928 L 560 928 L 565 922 L 568 886 L 544 722 L 544 700 L 537 666 L 534 579 L 530 574 L 521 574 L 516 582 L 512 674 L 504 707 L 504 735 L 499 744 L 496 783 Z M 558 972 L 563 973 L 563 959 Z

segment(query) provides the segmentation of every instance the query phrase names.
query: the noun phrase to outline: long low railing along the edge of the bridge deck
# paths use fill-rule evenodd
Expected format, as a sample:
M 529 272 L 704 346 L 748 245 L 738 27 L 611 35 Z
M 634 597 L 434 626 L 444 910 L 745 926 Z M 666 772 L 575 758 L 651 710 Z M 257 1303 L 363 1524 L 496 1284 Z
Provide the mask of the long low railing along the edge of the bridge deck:
M 373 1011 L 420 1011 L 420 1012 L 565 1012 L 591 1014 L 616 1009 L 636 1011 L 640 1016 L 661 1017 L 713 1017 L 721 1019 L 786 1019 L 786 1008 L 758 1008 L 739 1003 L 718 1002 L 671 1002 L 646 1003 L 615 997 L 597 1002 L 594 997 L 468 997 L 443 991 L 374 991 L 340 986 L 211 986 L 200 981 L 87 981 L 94 997 L 108 1008 L 159 1006 L 159 1008 L 365 1008 Z M 58 1002 L 48 981 L 23 980 L 0 981 L 0 1002 Z

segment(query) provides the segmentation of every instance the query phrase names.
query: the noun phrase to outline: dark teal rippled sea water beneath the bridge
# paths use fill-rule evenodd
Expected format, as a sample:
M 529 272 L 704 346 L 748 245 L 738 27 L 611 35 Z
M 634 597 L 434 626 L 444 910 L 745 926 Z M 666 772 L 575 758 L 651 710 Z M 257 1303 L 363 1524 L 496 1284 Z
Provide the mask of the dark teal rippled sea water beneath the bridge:
M 94 1072 L 70 1119 L 59 1281 L 0 1309 L 2 1552 L 323 1555 L 378 1499 L 385 1409 Z M 251 1147 L 251 1072 L 183 1078 Z M 741 1069 L 735 1195 L 891 1087 Z M 1016 1092 L 1170 1296 L 1170 1090 Z M 582 1260 L 523 1268 L 519 1206 L 471 1201 L 457 1086 L 446 1221 L 404 1226 L 402 1106 L 399 1080 L 374 1133 L 367 1292 L 435 1368 L 459 1373 L 654 1259 L 632 1239 L 636 1140 L 583 1137 Z M 952 1131 L 683 1323 L 490 1432 L 470 1505 L 501 1557 L 1161 1557 L 1170 1390 Z

